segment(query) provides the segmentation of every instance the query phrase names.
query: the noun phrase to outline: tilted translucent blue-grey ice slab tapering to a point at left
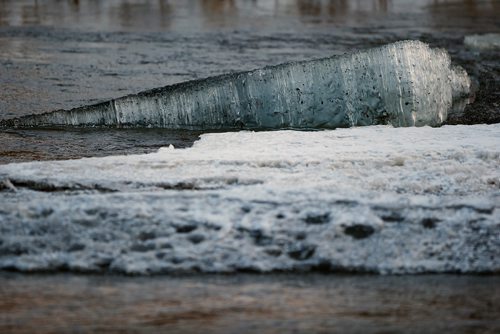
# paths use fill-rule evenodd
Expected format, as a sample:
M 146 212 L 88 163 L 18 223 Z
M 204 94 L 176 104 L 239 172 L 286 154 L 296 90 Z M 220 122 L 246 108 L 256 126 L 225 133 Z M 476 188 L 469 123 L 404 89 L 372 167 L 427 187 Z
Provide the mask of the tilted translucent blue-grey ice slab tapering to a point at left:
M 3 126 L 150 126 L 172 129 L 439 125 L 468 95 L 449 55 L 402 41 L 344 56 L 188 81 Z M 461 104 L 462 105 L 462 104 Z

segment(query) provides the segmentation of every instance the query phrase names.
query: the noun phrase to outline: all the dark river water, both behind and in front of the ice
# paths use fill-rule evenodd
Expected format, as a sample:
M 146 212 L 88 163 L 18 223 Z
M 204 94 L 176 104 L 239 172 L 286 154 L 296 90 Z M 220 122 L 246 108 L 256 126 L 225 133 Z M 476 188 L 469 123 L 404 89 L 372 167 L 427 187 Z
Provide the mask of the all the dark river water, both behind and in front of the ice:
M 495 0 L 0 0 L 0 118 L 401 39 L 446 48 L 478 87 L 449 123 L 500 122 Z M 197 132 L 10 129 L 0 163 L 186 147 Z M 497 276 L 0 275 L 0 332 L 500 331 Z

